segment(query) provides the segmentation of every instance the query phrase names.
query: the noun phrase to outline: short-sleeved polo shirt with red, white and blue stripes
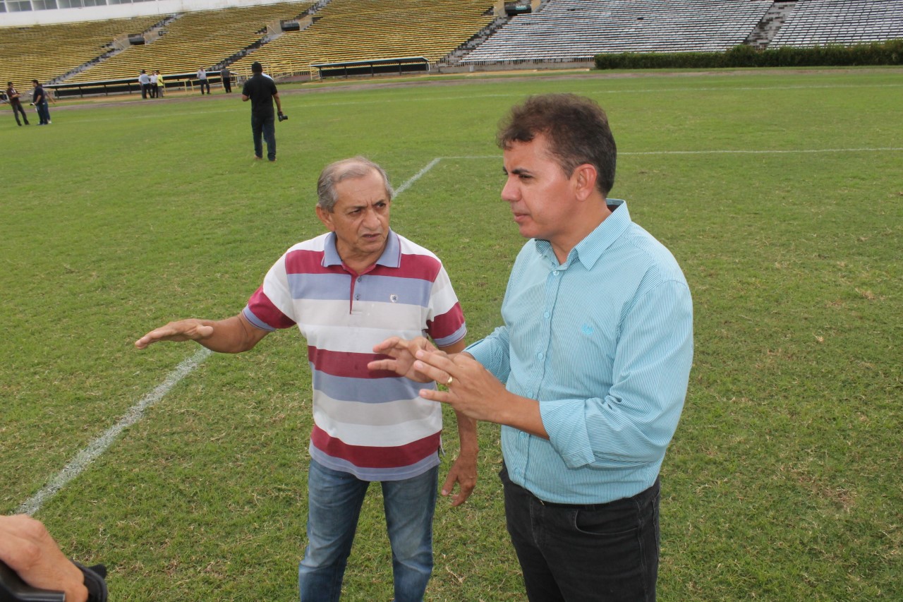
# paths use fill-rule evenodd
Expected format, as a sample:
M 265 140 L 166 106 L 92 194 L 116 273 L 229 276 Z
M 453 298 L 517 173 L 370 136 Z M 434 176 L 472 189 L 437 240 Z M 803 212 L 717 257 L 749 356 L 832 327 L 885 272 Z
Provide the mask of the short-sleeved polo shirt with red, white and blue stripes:
M 395 372 L 370 372 L 390 336 L 461 341 L 464 315 L 442 262 L 389 232 L 386 249 L 362 274 L 342 263 L 328 232 L 288 249 L 247 302 L 259 328 L 298 325 L 307 339 L 313 384 L 311 456 L 366 481 L 421 475 L 439 464 L 442 406 L 424 385 Z

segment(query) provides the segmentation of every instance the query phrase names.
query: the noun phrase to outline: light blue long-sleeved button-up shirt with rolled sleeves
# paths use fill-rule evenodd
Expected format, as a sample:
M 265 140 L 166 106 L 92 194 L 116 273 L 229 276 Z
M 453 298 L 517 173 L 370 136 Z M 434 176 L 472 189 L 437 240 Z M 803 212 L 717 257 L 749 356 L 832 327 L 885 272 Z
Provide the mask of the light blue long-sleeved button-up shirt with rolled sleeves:
M 502 427 L 508 475 L 554 503 L 606 503 L 655 483 L 684 407 L 693 300 L 673 255 L 614 212 L 560 264 L 547 240 L 517 255 L 500 326 L 467 352 L 539 400 L 549 439 Z

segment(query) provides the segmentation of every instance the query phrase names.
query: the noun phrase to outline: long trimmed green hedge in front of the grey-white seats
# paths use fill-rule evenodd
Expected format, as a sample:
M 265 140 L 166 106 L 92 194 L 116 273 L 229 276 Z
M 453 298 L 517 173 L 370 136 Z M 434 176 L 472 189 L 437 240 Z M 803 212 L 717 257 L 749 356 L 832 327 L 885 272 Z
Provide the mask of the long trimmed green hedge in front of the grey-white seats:
M 595 61 L 596 69 L 900 65 L 903 64 L 903 40 L 764 51 L 741 45 L 727 52 L 622 52 L 597 54 Z

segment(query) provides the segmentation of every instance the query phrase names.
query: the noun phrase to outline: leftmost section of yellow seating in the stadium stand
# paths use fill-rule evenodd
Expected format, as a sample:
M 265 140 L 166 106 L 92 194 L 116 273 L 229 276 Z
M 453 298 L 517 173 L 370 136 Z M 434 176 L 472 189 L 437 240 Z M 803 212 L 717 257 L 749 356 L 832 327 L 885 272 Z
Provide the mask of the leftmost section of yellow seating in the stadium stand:
M 161 21 L 160 16 L 115 19 L 72 24 L 4 27 L 0 29 L 0 78 L 47 83 L 89 61 L 115 52 L 116 43 L 127 43 L 129 33 L 143 33 Z

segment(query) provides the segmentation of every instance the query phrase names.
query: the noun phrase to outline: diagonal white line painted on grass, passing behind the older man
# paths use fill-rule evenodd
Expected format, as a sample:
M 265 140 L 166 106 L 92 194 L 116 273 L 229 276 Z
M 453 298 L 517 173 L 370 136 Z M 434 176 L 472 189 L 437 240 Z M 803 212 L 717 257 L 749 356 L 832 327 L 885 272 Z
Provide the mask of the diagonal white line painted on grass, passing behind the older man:
M 408 179 L 405 183 L 398 187 L 396 190 L 396 195 L 405 192 L 408 188 L 410 188 L 417 180 L 424 176 L 427 172 L 429 172 L 433 167 L 439 164 L 442 160 L 442 157 L 437 157 L 433 159 L 430 163 L 424 166 L 419 172 L 414 174 L 410 179 Z M 126 411 L 126 414 L 119 419 L 116 424 L 112 427 L 107 428 L 107 430 L 95 438 L 88 444 L 88 447 L 85 447 L 75 457 L 73 457 L 69 464 L 63 466 L 62 470 L 53 475 L 50 482 L 43 486 L 43 488 L 37 493 L 34 494 L 31 498 L 29 498 L 26 502 L 20 505 L 15 513 L 17 514 L 29 514 L 33 515 L 34 513 L 41 510 L 42 505 L 51 499 L 54 495 L 59 493 L 63 487 L 70 483 L 72 479 L 85 472 L 88 466 L 94 462 L 94 460 L 98 459 L 107 449 L 113 445 L 113 442 L 116 441 L 116 438 L 122 433 L 122 431 L 126 430 L 131 426 L 137 424 L 141 419 L 144 418 L 144 412 L 152 408 L 156 403 L 166 396 L 167 393 L 172 390 L 183 378 L 188 376 L 191 372 L 193 372 L 204 360 L 206 360 L 213 352 L 205 347 L 201 347 L 197 353 L 194 353 L 186 360 L 183 360 L 179 365 L 175 367 L 175 369 L 166 375 L 166 378 L 159 385 L 154 387 L 154 390 L 151 390 L 149 393 L 144 395 L 141 400 L 139 400 L 134 406 L 129 408 Z

